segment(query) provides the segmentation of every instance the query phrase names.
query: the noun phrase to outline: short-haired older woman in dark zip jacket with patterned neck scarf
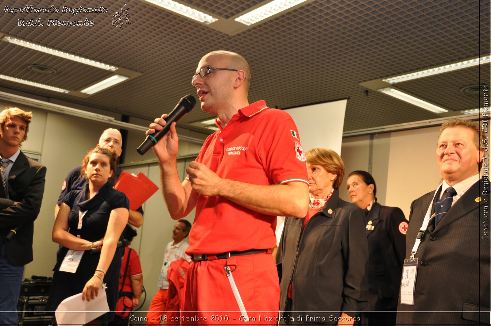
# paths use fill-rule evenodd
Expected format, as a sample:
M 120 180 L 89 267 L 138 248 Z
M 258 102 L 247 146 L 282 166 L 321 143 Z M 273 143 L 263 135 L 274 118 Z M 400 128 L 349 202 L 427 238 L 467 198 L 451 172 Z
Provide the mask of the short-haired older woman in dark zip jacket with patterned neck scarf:
M 287 217 L 276 256 L 282 322 L 353 325 L 367 302 L 363 211 L 339 198 L 344 163 L 334 151 L 306 153 L 310 205 Z M 294 313 L 295 312 L 295 313 Z

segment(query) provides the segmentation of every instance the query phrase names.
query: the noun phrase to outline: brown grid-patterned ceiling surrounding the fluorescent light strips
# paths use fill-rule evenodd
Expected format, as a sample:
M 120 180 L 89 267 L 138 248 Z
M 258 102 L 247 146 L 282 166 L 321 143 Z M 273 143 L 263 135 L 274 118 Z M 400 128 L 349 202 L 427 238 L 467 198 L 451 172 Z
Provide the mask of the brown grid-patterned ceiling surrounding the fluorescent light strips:
M 258 6 L 259 0 L 181 0 L 219 18 Z M 234 36 L 146 1 L 128 3 L 131 24 L 117 28 L 110 15 L 126 2 L 107 0 L 4 0 L 3 6 L 60 8 L 57 13 L 0 16 L 0 33 L 142 73 L 81 99 L 70 94 L 0 80 L 0 86 L 109 109 L 148 119 L 170 111 L 179 98 L 195 95 L 191 76 L 200 57 L 213 50 L 242 54 L 251 67 L 249 101 L 278 108 L 349 98 L 346 131 L 438 117 L 359 83 L 489 54 L 490 5 L 469 0 L 317 0 L 258 23 Z M 62 13 L 61 8 L 105 6 L 107 13 Z M 19 19 L 88 19 L 94 26 L 29 27 Z M 27 70 L 56 69 L 54 75 Z M 459 92 L 468 83 L 490 83 L 478 68 L 400 83 L 397 87 L 452 110 L 472 99 Z M 488 69 L 489 71 L 489 69 Z M 0 42 L 0 72 L 68 89 L 81 89 L 108 72 Z M 476 76 L 477 74 L 477 76 Z M 210 119 L 199 105 L 180 122 Z M 188 126 L 192 130 L 197 127 Z

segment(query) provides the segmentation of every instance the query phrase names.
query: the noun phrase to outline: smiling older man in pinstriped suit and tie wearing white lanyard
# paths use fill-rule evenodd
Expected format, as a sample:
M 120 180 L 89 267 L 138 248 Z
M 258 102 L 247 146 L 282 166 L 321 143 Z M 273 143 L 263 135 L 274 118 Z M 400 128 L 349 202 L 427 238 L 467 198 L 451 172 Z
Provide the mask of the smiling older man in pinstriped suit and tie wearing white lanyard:
M 443 183 L 411 204 L 398 325 L 490 323 L 488 163 L 479 174 L 487 143 L 467 120 L 440 129 Z

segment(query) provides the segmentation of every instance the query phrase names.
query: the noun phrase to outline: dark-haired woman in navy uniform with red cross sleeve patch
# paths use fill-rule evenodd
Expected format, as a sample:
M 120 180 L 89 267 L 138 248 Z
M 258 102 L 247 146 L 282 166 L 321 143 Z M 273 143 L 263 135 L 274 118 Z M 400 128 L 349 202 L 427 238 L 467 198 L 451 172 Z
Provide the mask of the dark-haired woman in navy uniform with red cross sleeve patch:
M 370 173 L 353 171 L 346 184 L 351 201 L 365 212 L 370 257 L 368 305 L 361 323 L 394 325 L 408 221 L 401 209 L 377 202 L 377 186 Z

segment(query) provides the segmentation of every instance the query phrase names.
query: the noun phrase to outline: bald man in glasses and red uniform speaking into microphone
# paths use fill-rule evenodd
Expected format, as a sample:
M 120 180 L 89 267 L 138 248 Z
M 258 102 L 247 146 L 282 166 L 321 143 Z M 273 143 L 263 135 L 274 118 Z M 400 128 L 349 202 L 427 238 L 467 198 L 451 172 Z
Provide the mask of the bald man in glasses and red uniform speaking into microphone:
M 249 104 L 249 81 L 241 55 L 203 56 L 192 85 L 201 109 L 218 117 L 219 130 L 206 139 L 182 183 L 175 123 L 153 148 L 170 216 L 183 218 L 196 208 L 181 323 L 237 324 L 266 317 L 276 324 L 279 283 L 271 255 L 276 216 L 305 216 L 308 179 L 293 119 L 264 101 Z M 147 135 L 162 130 L 166 116 L 155 119 Z

